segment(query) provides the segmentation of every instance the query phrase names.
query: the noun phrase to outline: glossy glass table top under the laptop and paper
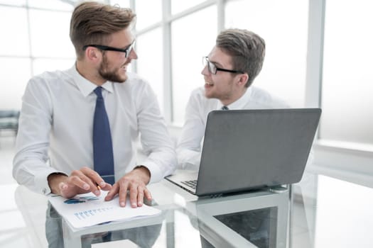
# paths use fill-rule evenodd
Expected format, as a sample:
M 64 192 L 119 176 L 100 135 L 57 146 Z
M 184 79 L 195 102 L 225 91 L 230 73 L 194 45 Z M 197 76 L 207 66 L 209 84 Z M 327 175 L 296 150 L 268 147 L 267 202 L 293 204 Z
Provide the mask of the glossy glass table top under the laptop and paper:
M 161 215 L 83 229 L 64 222 L 45 196 L 3 188 L 0 246 L 373 247 L 373 188 L 328 176 L 219 198 L 197 198 L 168 181 L 148 188 Z

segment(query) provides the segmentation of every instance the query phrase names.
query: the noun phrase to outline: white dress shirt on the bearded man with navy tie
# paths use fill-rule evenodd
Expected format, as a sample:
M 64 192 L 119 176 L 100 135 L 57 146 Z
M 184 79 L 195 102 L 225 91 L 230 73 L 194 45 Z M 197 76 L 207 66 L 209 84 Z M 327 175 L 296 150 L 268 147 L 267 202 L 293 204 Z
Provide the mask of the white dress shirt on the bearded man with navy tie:
M 75 66 L 44 72 L 28 81 L 13 160 L 13 177 L 18 184 L 48 194 L 49 174 L 69 175 L 81 167 L 93 169 L 96 87 Z M 116 181 L 140 164 L 151 172 L 150 182 L 171 174 L 177 163 L 175 150 L 149 84 L 128 73 L 124 83 L 107 81 L 102 88 L 112 132 Z M 144 161 L 136 161 L 139 134 L 147 155 Z

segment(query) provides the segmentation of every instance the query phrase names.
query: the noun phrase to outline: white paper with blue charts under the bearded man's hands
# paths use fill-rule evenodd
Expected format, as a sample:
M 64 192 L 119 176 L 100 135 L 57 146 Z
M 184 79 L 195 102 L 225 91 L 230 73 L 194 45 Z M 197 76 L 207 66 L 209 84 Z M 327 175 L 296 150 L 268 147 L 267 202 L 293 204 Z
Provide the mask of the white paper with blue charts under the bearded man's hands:
M 131 208 L 129 196 L 126 198 L 126 207 L 119 206 L 119 198 L 112 201 L 104 201 L 107 191 L 101 191 L 100 196 L 93 193 L 77 195 L 66 199 L 62 196 L 50 196 L 49 201 L 60 215 L 70 222 L 73 227 L 89 227 L 104 222 L 144 218 L 158 215 L 161 210 L 143 205 Z

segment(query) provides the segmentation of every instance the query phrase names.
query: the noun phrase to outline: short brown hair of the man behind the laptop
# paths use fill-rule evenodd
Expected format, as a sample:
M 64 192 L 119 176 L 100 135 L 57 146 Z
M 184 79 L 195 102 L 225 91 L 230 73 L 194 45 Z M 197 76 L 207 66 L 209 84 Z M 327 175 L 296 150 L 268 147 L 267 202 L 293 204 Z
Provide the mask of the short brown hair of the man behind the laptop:
M 232 57 L 233 69 L 247 72 L 249 87 L 261 71 L 266 43 L 256 33 L 244 29 L 227 29 L 217 35 L 216 46 Z

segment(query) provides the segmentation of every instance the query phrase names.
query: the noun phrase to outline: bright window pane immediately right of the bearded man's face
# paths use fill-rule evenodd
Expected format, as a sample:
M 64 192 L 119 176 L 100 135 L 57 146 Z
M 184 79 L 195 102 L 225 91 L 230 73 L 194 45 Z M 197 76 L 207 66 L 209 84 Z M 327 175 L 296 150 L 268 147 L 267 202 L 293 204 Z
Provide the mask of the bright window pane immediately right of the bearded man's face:
M 156 28 L 136 40 L 139 59 L 136 61 L 137 72 L 144 77 L 155 91 L 158 103 L 163 111 L 163 39 L 161 28 Z M 151 41 L 151 42 L 149 42 Z

